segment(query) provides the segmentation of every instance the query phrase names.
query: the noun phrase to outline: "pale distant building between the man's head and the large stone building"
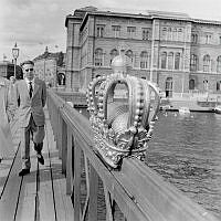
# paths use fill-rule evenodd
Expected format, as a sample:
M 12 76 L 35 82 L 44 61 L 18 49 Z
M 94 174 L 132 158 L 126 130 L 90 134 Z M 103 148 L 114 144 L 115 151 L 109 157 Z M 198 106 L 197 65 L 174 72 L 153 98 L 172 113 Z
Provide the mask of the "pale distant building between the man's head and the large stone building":
M 65 84 L 64 61 L 65 54 L 63 52 L 51 53 L 46 48 L 43 54 L 33 60 L 35 75 L 50 86 Z

